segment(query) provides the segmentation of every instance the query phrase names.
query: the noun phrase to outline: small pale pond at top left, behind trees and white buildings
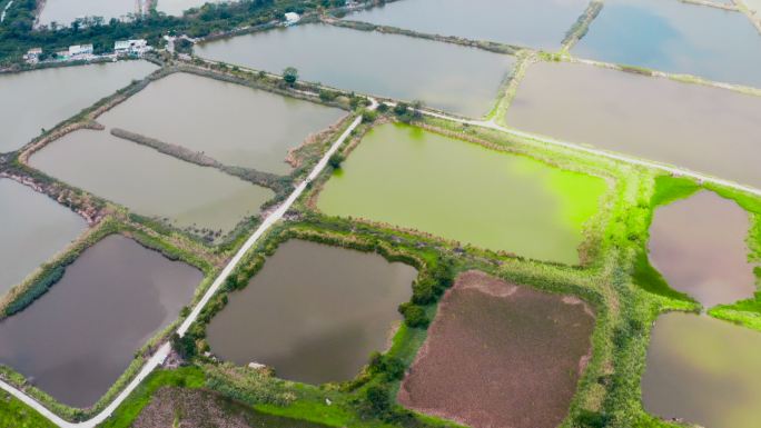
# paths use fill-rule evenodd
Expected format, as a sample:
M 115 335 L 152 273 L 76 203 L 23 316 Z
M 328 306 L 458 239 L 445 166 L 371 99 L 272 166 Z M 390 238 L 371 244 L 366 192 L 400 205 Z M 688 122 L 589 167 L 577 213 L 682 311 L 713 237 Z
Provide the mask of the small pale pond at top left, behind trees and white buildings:
M 111 18 L 125 18 L 129 13 L 138 13 L 137 0 L 46 0 L 40 12 L 40 24 L 68 27 L 77 18 L 102 17 L 108 23 Z

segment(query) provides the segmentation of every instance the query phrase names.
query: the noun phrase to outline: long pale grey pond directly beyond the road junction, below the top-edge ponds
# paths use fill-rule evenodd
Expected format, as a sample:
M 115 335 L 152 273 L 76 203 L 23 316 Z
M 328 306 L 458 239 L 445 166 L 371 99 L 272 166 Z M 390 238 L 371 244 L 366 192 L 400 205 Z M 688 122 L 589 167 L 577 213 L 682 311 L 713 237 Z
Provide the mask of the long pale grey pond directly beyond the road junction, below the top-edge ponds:
M 478 117 L 515 59 L 397 34 L 304 24 L 197 46 L 200 57 Z

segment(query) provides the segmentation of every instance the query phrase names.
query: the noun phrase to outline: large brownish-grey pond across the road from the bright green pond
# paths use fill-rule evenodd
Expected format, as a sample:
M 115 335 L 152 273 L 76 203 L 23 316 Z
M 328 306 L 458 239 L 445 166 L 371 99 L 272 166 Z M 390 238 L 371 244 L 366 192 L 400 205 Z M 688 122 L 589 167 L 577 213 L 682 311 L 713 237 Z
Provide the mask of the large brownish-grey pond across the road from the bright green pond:
M 528 68 L 506 121 L 524 131 L 761 187 L 761 97 L 542 62 Z

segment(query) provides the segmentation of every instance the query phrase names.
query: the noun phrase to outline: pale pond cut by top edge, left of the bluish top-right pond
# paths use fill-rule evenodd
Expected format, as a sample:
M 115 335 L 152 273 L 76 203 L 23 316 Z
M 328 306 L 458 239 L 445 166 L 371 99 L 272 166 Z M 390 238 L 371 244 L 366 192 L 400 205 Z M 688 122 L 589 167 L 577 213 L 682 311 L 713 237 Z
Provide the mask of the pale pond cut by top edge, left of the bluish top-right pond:
M 587 4 L 586 0 L 404 0 L 346 19 L 555 51 Z

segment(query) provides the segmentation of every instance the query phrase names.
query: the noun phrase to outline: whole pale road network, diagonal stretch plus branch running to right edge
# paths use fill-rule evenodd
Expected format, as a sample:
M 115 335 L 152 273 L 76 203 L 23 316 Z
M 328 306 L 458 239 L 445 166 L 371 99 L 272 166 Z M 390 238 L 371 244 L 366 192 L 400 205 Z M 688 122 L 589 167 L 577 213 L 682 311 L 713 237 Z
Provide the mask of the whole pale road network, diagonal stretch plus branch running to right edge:
M 217 61 L 213 60 L 204 60 L 204 62 L 209 63 L 209 64 L 215 64 Z M 253 70 L 246 67 L 240 67 L 240 69 L 248 70 L 248 71 L 254 71 L 256 72 L 257 70 Z M 270 74 L 273 77 L 278 77 L 276 74 Z M 334 89 L 335 90 L 335 89 Z M 314 93 L 309 93 L 314 94 Z M 369 107 L 370 110 L 374 110 L 377 108 L 378 102 L 367 96 L 368 100 L 370 101 L 372 106 Z M 396 102 L 393 101 L 385 101 L 385 104 L 389 107 L 396 106 Z M 584 147 L 581 145 L 567 142 L 567 141 L 561 141 L 557 139 L 531 133 L 531 132 L 523 132 L 520 130 L 502 127 L 494 121 L 485 121 L 485 120 L 473 120 L 473 119 L 465 119 L 462 117 L 454 117 L 449 115 L 445 115 L 439 111 L 432 111 L 432 110 L 426 110 L 426 109 L 421 109 L 421 113 L 432 117 L 432 118 L 437 118 L 437 119 L 443 119 L 443 120 L 448 120 L 462 125 L 468 125 L 468 126 L 475 126 L 475 127 L 482 127 L 482 128 L 487 128 L 487 129 L 493 129 L 500 132 L 504 132 L 510 136 L 518 137 L 518 138 L 524 138 L 528 139 L 538 143 L 544 143 L 544 145 L 551 145 L 564 149 L 570 149 L 570 150 L 575 150 L 575 151 L 581 151 L 590 155 L 595 155 L 595 156 L 601 156 L 607 159 L 613 159 L 616 161 L 621 161 L 624 163 L 629 165 L 634 165 L 634 166 L 640 166 L 640 167 L 645 167 L 645 168 L 651 168 L 651 169 L 656 169 L 660 171 L 669 172 L 675 176 L 682 176 L 682 177 L 690 177 L 699 181 L 703 182 L 711 182 L 715 183 L 719 186 L 728 187 L 731 189 L 740 190 L 743 192 L 748 192 L 754 196 L 761 197 L 761 189 L 757 189 L 750 186 L 743 186 L 740 183 L 737 183 L 734 181 L 730 180 L 723 180 L 720 178 L 711 177 L 709 175 L 695 172 L 685 168 L 679 168 L 679 167 L 673 167 L 660 162 L 654 162 L 654 161 L 649 161 L 649 160 L 643 160 L 643 159 L 638 159 L 634 157 L 625 156 L 625 155 L 620 155 L 620 153 L 613 153 L 609 152 L 605 150 L 599 150 L 599 149 L 593 149 L 589 147 Z M 330 146 L 330 148 L 327 150 L 327 152 L 323 156 L 320 161 L 315 166 L 313 171 L 309 173 L 309 176 L 302 181 L 298 187 L 290 193 L 290 196 L 278 207 L 277 210 L 273 211 L 257 228 L 254 233 L 246 240 L 244 246 L 236 252 L 236 255 L 230 259 L 228 265 L 223 269 L 223 271 L 219 273 L 219 276 L 216 278 L 211 287 L 207 290 L 207 292 L 204 295 L 201 300 L 198 302 L 198 305 L 195 306 L 190 315 L 185 319 L 185 321 L 179 326 L 177 329 L 177 334 L 180 336 L 184 336 L 192 322 L 198 318 L 200 315 L 201 310 L 206 307 L 206 305 L 209 302 L 209 300 L 214 297 L 214 295 L 217 292 L 217 290 L 221 287 L 224 283 L 225 279 L 233 272 L 233 270 L 237 267 L 237 265 L 240 262 L 243 257 L 245 256 L 248 250 L 250 250 L 256 242 L 264 236 L 264 233 L 277 221 L 279 221 L 285 212 L 290 208 L 290 206 L 298 199 L 304 190 L 306 189 L 307 185 L 313 181 L 317 176 L 325 169 L 327 166 L 327 162 L 335 153 L 338 148 L 343 145 L 343 142 L 349 137 L 350 132 L 362 122 L 362 117 L 357 117 L 352 125 L 344 131 L 344 133 L 336 140 L 336 142 Z M 18 398 L 20 401 L 23 404 L 28 405 L 36 411 L 40 412 L 43 417 L 49 419 L 51 422 L 58 425 L 59 427 L 62 428 L 95 428 L 97 425 L 101 424 L 106 419 L 108 419 L 113 411 L 129 397 L 129 395 L 142 382 L 142 380 L 150 375 L 157 367 L 159 367 L 165 359 L 168 357 L 170 352 L 170 345 L 169 342 L 164 344 L 154 354 L 154 356 L 148 360 L 148 362 L 142 367 L 142 369 L 138 372 L 138 375 L 129 382 L 129 385 L 117 396 L 117 398 L 108 406 L 106 407 L 100 414 L 97 416 L 92 417 L 91 419 L 82 422 L 69 422 L 67 420 L 63 420 L 61 417 L 58 415 L 53 414 L 50 411 L 48 408 L 39 404 L 37 400 L 33 398 L 27 396 L 23 391 L 17 389 L 16 387 L 11 386 L 10 384 L 0 380 L 0 388 L 9 392 L 11 396 Z

